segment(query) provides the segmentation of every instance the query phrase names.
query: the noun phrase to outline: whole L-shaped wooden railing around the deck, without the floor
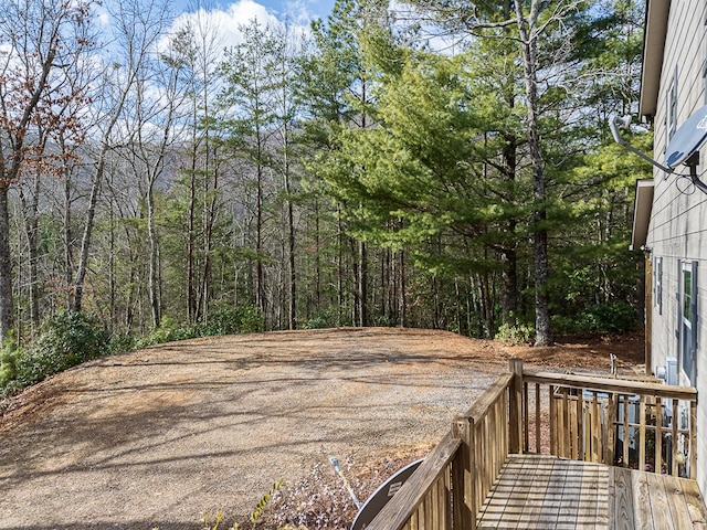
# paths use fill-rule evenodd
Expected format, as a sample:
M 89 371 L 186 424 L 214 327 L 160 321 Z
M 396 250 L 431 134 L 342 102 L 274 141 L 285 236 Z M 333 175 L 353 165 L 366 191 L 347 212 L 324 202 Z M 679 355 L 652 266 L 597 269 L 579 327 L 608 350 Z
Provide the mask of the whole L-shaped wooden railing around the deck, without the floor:
M 511 360 L 509 372 L 453 422 L 367 530 L 475 530 L 494 480 L 515 453 L 651 466 L 694 478 L 696 402 L 693 388 L 534 372 Z

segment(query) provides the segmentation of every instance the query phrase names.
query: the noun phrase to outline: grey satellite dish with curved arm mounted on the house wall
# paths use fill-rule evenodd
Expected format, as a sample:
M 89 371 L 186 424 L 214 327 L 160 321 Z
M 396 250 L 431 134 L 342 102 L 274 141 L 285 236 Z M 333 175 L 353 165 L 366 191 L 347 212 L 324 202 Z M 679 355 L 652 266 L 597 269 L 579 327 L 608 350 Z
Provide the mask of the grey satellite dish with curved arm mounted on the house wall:
M 648 157 L 646 153 L 641 152 L 639 149 L 627 144 L 619 134 L 619 128 L 629 128 L 631 125 L 631 116 L 618 117 L 611 115 L 609 117 L 609 128 L 614 137 L 616 144 L 620 144 L 629 151 L 641 157 L 642 159 L 651 162 L 653 166 L 664 171 L 667 174 L 678 174 L 679 177 L 687 177 L 684 174 L 675 173 L 675 168 L 679 165 L 685 165 L 689 168 L 689 179 L 695 184 L 695 188 L 703 193 L 707 193 L 707 184 L 699 180 L 697 174 L 697 166 L 699 166 L 699 148 L 707 140 L 707 105 L 701 107 L 695 114 L 693 114 L 687 121 L 685 121 L 677 131 L 671 138 L 667 149 L 665 150 L 665 166 Z

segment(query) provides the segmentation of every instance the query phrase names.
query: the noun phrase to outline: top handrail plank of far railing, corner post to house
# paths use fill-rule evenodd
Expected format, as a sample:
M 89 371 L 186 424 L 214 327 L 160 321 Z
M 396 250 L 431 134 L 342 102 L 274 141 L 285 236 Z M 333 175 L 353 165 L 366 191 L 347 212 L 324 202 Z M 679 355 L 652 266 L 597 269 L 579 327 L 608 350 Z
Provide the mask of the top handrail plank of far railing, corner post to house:
M 523 378 L 530 383 L 553 384 L 572 389 L 587 389 L 600 392 L 614 392 L 635 395 L 654 395 L 685 401 L 696 401 L 697 390 L 694 386 L 675 386 L 662 383 L 629 381 L 622 379 L 597 378 L 573 373 L 540 372 L 524 369 Z

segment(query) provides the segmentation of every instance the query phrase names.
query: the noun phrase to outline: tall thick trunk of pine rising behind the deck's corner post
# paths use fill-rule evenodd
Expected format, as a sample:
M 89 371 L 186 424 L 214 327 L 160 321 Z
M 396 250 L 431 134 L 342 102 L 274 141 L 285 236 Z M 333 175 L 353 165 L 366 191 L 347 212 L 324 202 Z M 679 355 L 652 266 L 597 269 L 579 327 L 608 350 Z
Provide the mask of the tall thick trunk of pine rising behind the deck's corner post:
M 546 183 L 542 153 L 540 152 L 540 131 L 538 127 L 538 72 L 537 72 L 537 22 L 540 0 L 532 0 L 530 15 L 526 20 L 523 2 L 515 2 L 518 17 L 523 62 L 526 84 L 526 105 L 528 107 L 528 147 L 532 166 L 532 195 L 535 211 L 534 266 L 535 266 L 535 329 L 536 346 L 552 343 L 550 316 L 548 312 L 548 232 L 544 227 L 547 220 Z

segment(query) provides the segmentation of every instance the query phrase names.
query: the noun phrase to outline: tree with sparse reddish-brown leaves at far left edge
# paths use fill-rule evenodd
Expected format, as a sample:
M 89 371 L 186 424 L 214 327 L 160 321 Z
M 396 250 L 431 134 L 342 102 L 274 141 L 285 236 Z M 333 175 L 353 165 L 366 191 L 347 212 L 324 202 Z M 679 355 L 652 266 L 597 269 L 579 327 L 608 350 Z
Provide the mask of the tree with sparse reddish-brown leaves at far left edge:
M 80 130 L 77 117 L 62 109 L 84 94 L 66 83 L 64 68 L 91 46 L 92 4 L 0 2 L 0 338 L 13 325 L 8 192 L 31 167 L 61 173 L 61 155 L 44 148 L 61 131 Z

